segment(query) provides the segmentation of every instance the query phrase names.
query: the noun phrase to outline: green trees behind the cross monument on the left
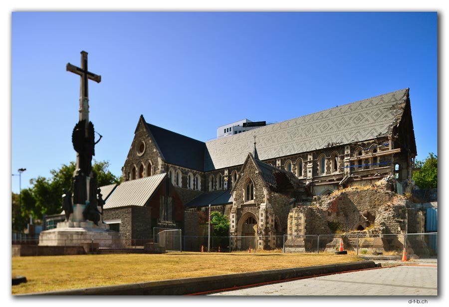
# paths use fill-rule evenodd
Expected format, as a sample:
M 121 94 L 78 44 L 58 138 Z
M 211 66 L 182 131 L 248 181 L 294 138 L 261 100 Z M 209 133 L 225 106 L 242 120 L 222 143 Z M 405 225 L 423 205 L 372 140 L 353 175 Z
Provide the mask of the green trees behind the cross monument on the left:
M 92 169 L 97 174 L 98 186 L 112 183 L 120 183 L 121 178 L 114 176 L 108 169 L 108 161 L 93 161 Z M 31 186 L 21 191 L 21 219 L 19 223 L 18 205 L 13 206 L 13 224 L 14 230 L 21 230 L 26 222 L 29 221 L 29 215 L 33 220 L 39 221 L 43 214 L 58 214 L 62 211 L 63 189 L 71 189 L 73 173 L 75 171 L 75 162 L 63 164 L 58 169 L 50 170 L 51 177 L 45 178 L 38 176 L 30 180 Z M 18 203 L 18 198 L 12 195 L 13 203 Z M 15 209 L 15 211 L 14 211 Z M 14 215 L 15 212 L 15 215 Z M 23 225 L 24 223 L 24 225 Z

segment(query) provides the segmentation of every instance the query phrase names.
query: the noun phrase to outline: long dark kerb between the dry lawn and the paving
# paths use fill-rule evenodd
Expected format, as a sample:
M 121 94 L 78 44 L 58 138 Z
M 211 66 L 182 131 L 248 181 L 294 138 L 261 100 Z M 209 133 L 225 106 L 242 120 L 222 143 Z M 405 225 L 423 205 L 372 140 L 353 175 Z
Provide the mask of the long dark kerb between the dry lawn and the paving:
M 364 270 L 375 268 L 373 261 L 359 261 L 341 264 L 331 264 L 313 267 L 269 270 L 260 272 L 238 273 L 196 278 L 183 278 L 156 282 L 136 283 L 117 286 L 105 286 L 84 288 L 75 290 L 52 291 L 31 293 L 20 296 L 113 296 L 113 295 L 191 295 L 283 281 L 294 278 L 306 278 L 323 274 L 335 274 L 346 271 Z

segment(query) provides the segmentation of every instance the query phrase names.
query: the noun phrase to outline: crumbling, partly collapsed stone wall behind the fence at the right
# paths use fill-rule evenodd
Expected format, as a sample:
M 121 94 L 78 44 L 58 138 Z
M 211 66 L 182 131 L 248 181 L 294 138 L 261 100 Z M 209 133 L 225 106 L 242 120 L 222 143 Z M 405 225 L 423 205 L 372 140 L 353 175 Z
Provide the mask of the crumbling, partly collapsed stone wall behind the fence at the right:
M 385 234 L 407 233 L 409 200 L 389 190 L 390 182 L 381 181 L 370 187 L 352 187 L 314 196 L 310 206 L 290 211 L 288 234 L 348 233 L 373 227 L 382 227 Z M 419 213 L 414 213 L 413 220 L 420 219 Z M 415 228 L 419 230 L 420 226 Z

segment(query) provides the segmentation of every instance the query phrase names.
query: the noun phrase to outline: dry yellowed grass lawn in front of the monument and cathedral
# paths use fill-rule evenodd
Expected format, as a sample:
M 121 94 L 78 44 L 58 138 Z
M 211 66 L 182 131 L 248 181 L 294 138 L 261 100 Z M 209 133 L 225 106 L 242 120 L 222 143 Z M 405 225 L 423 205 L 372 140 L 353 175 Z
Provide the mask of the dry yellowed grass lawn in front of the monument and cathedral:
M 12 294 L 111 286 L 360 261 L 354 255 L 282 253 L 112 254 L 13 257 Z

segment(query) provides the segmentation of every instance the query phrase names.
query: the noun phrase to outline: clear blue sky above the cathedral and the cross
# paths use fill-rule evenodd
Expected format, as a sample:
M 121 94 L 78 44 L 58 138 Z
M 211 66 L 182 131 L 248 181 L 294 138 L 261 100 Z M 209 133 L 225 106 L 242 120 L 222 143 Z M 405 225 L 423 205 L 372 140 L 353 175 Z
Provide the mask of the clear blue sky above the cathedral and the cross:
M 121 175 L 146 121 L 207 141 L 248 118 L 281 122 L 410 88 L 418 159 L 437 153 L 436 12 L 13 12 L 11 169 L 29 179 L 74 161 L 89 53 L 95 159 Z M 18 192 L 18 177 L 11 177 Z

